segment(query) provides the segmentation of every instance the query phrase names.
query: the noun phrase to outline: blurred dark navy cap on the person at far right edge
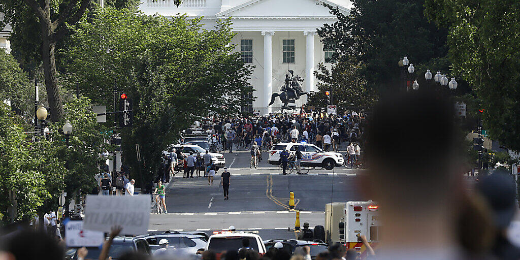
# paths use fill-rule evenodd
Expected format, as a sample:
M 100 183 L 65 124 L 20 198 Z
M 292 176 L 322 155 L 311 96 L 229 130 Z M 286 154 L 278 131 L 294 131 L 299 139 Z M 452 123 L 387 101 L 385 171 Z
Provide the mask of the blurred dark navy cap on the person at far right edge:
M 516 188 L 512 176 L 498 171 L 479 180 L 477 190 L 491 207 L 493 221 L 498 228 L 506 228 L 516 212 Z

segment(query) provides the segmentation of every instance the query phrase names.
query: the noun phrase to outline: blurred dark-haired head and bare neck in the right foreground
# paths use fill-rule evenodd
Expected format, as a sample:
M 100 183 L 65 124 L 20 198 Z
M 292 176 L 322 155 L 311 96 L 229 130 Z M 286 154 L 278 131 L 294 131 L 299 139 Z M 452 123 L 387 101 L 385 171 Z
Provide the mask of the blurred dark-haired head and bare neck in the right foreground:
M 380 204 L 385 246 L 453 246 L 462 192 L 453 116 L 447 97 L 426 92 L 386 97 L 374 107 L 361 188 Z

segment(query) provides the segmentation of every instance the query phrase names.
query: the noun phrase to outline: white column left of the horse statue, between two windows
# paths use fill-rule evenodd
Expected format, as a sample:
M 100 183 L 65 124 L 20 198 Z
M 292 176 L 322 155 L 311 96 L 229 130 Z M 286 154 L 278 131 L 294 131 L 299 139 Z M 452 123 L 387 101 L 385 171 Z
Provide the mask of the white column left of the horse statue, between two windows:
M 264 102 L 262 104 L 267 108 L 272 95 L 272 35 L 275 35 L 275 32 L 262 31 L 262 35 L 264 35 Z M 268 108 L 264 111 L 270 113 L 272 109 Z

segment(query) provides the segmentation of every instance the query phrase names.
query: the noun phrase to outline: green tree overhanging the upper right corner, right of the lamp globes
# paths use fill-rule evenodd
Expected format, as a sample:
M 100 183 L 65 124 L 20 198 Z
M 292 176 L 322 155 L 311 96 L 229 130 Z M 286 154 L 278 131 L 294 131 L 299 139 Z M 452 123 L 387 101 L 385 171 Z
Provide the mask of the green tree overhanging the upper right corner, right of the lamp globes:
M 425 6 L 432 21 L 448 28 L 453 70 L 474 88 L 489 136 L 519 151 L 520 2 L 427 0 Z

